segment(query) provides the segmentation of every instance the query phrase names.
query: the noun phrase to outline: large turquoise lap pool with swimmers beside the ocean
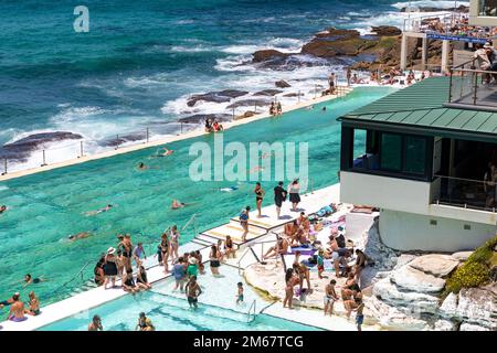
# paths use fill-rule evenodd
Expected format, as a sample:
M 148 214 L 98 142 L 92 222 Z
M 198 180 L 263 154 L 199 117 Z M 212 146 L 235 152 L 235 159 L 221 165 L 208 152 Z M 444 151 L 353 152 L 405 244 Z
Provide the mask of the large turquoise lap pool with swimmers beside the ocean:
M 225 142 L 240 141 L 308 141 L 309 174 L 314 188 L 337 181 L 340 132 L 336 118 L 387 94 L 390 88 L 359 88 L 343 99 L 337 99 L 313 110 L 295 110 L 283 117 L 240 126 L 224 133 Z M 172 224 L 184 225 L 198 215 L 199 229 L 228 221 L 246 204 L 253 205 L 253 183 L 242 183 L 235 192 L 220 192 L 225 182 L 192 182 L 189 178 L 189 147 L 194 141 L 212 143 L 213 136 L 170 143 L 175 153 L 168 158 L 150 158 L 158 148 L 101 159 L 83 164 L 38 173 L 0 183 L 0 204 L 9 211 L 0 216 L 0 300 L 14 291 L 27 290 L 17 281 L 28 272 L 44 276 L 49 281 L 33 285 L 42 304 L 60 300 L 71 288 L 54 292 L 72 279 L 88 260 L 116 245 L 119 232 L 133 234 L 134 240 L 157 240 L 160 232 Z M 151 167 L 138 171 L 144 161 Z M 274 182 L 263 183 L 271 190 Z M 268 193 L 271 195 L 271 193 Z M 171 211 L 172 199 L 192 203 Z M 267 196 L 264 204 L 271 204 Z M 84 213 L 107 204 L 112 211 L 95 216 Z M 80 232 L 93 236 L 70 243 L 66 237 Z M 182 234 L 181 243 L 193 236 L 192 227 Z M 92 277 L 93 265 L 84 276 Z

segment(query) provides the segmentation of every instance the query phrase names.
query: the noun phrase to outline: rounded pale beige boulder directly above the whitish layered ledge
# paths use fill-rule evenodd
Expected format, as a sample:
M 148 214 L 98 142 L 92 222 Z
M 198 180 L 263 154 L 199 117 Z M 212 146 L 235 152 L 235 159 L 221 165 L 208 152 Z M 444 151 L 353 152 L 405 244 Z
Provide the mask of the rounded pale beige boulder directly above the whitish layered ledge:
M 444 279 L 427 275 L 410 265 L 393 271 L 391 280 L 404 290 L 421 293 L 436 293 L 445 287 Z

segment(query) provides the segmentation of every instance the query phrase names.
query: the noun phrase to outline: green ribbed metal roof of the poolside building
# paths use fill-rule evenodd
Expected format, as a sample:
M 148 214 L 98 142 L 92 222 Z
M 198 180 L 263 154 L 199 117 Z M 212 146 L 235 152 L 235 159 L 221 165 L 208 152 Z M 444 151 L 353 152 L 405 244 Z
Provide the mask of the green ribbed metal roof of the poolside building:
M 496 139 L 497 113 L 444 107 L 448 100 L 448 77 L 432 77 L 400 89 L 341 117 L 347 122 L 389 126 L 442 135 L 480 135 Z

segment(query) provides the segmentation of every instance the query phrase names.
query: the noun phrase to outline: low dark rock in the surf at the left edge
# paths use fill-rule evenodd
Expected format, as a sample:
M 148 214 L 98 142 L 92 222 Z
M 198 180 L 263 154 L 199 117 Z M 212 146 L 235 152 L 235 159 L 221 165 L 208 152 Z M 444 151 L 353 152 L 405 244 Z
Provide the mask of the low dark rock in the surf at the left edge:
M 83 136 L 67 131 L 33 133 L 12 143 L 7 143 L 0 147 L 0 158 L 7 158 L 15 161 L 27 161 L 31 152 L 35 150 L 41 151 L 44 143 L 81 139 L 83 139 Z

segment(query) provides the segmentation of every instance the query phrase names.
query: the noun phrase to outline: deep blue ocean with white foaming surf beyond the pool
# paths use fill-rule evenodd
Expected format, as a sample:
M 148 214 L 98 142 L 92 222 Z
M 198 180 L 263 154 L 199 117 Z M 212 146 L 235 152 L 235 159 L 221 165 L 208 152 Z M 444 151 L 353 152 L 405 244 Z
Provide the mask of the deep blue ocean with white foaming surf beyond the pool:
M 412 1 L 452 7 L 453 1 Z M 75 33 L 73 9 L 89 9 L 89 32 Z M 408 2 L 392 0 L 24 0 L 1 1 L 0 146 L 35 132 L 80 133 L 86 152 L 108 148 L 116 135 L 142 139 L 175 133 L 179 118 L 228 113 L 230 103 L 187 105 L 192 94 L 275 88 L 310 98 L 343 63 L 296 56 L 279 69 L 250 63 L 258 49 L 295 52 L 328 26 L 402 25 Z M 284 105 L 297 98 L 281 97 Z M 232 103 L 232 101 L 231 101 Z M 193 128 L 193 127 L 184 127 Z M 140 131 L 141 136 L 133 136 Z M 78 141 L 44 143 L 23 163 L 74 158 Z M 9 161 L 15 169 L 17 161 Z

